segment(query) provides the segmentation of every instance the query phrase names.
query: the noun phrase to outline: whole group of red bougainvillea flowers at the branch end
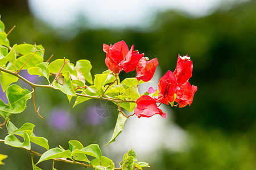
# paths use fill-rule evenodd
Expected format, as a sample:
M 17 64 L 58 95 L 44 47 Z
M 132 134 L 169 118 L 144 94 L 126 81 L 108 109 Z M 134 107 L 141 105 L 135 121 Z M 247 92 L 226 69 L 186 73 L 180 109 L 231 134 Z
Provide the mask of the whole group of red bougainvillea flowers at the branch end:
M 148 82 L 151 80 L 156 66 L 158 66 L 157 58 L 148 61 L 143 53 L 139 54 L 138 50 L 134 51 L 134 45 L 129 50 L 125 41 L 119 41 L 110 46 L 104 44 L 103 50 L 106 53 L 105 63 L 114 74 L 119 74 L 122 70 L 128 73 L 136 69 L 138 81 Z M 139 97 L 136 101 L 137 107 L 134 109 L 134 113 L 138 117 L 151 117 L 154 114 L 160 114 L 160 116 L 166 118 L 166 113 L 163 113 L 156 103 L 174 105 L 174 102 L 176 102 L 176 106 L 179 104 L 180 108 L 191 105 L 193 96 L 197 91 L 197 87 L 191 86 L 188 82 L 192 76 L 192 70 L 193 65 L 190 57 L 179 55 L 174 73 L 168 70 L 160 78 L 157 89 L 158 96 L 143 95 Z M 157 90 L 150 87 L 148 93 L 152 94 Z

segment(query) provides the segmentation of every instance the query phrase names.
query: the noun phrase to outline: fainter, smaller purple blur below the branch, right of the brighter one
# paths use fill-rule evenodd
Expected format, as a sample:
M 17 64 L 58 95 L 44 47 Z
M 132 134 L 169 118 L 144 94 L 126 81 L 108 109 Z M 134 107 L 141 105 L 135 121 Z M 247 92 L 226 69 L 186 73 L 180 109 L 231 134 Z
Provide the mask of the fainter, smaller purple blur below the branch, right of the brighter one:
M 85 110 L 85 113 L 82 114 L 82 121 L 85 124 L 98 125 L 102 123 L 102 117 L 100 117 L 96 112 L 96 107 L 88 107 Z

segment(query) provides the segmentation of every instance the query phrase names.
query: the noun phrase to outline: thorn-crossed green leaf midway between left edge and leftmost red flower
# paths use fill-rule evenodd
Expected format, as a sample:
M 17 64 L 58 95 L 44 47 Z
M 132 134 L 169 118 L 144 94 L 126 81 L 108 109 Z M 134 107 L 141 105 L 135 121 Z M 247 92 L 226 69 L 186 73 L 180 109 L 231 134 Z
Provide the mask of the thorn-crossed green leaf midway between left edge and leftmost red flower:
M 69 61 L 69 59 L 65 59 L 65 62 Z M 49 63 L 48 69 L 50 73 L 59 73 L 61 67 L 64 64 L 64 59 L 56 59 L 55 61 Z M 77 77 L 77 71 L 74 66 L 71 65 L 70 62 L 65 63 L 63 69 L 60 73 L 64 73 L 65 71 L 69 71 L 70 74 L 75 75 Z

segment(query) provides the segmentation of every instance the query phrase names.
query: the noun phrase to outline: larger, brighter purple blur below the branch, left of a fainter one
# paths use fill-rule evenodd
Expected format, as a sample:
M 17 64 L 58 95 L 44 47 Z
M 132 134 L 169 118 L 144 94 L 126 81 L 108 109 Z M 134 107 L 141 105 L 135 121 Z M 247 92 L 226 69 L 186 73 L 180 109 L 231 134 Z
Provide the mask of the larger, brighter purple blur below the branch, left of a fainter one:
M 48 123 L 55 129 L 69 130 L 74 127 L 75 120 L 73 116 L 64 109 L 53 109 Z

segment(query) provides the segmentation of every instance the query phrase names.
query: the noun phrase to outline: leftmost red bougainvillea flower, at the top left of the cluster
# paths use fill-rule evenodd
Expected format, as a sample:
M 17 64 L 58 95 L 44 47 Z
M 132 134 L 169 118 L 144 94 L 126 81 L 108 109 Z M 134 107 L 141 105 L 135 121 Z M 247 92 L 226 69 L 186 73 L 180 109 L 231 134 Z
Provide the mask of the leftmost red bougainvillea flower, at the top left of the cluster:
M 110 46 L 103 44 L 103 50 L 106 53 L 106 66 L 108 66 L 109 70 L 113 71 L 113 73 L 120 73 L 122 67 L 119 67 L 118 64 L 123 61 L 126 54 L 129 52 L 125 41 L 119 41 L 114 45 L 110 44 Z

